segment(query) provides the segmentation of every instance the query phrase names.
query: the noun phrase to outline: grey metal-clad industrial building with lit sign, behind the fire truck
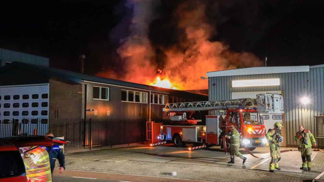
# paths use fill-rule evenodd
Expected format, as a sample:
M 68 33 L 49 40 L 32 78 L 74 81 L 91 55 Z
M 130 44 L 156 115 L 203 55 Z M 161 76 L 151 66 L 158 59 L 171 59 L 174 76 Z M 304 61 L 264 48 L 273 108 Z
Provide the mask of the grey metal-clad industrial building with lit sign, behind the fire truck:
M 283 94 L 284 114 L 262 116 L 267 130 L 275 122 L 282 122 L 282 146 L 297 146 L 295 133 L 299 125 L 304 125 L 314 134 L 318 146 L 324 146 L 324 64 L 214 71 L 207 72 L 207 77 L 210 101 Z

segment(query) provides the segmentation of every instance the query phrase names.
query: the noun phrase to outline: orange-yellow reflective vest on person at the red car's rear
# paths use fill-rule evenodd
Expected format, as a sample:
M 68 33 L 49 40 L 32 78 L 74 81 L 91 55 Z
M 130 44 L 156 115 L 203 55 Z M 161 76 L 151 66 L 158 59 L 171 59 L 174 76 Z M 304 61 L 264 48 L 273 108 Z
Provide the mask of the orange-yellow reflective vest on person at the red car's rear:
M 23 156 L 27 178 L 31 182 L 51 182 L 50 158 L 45 149 L 34 146 Z

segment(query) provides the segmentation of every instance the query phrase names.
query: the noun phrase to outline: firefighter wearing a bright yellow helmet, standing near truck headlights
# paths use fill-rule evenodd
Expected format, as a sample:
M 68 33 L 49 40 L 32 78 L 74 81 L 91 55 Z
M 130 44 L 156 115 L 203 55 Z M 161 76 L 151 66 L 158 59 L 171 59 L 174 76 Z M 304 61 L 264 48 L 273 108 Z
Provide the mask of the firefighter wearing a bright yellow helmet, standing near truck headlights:
M 269 165 L 269 171 L 274 173 L 274 169 L 281 170 L 278 162 L 281 159 L 279 142 L 284 141 L 284 137 L 281 136 L 281 129 L 283 124 L 280 122 L 274 123 L 274 129 L 267 133 L 267 139 L 269 141 L 271 161 Z

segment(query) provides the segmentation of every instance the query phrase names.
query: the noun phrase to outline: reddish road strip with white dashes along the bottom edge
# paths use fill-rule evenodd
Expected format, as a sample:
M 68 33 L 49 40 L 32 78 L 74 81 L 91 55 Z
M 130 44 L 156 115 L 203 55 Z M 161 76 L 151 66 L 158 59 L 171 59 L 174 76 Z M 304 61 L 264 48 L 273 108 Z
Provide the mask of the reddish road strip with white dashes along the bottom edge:
M 119 182 L 139 182 L 139 181 L 156 181 L 156 182 L 193 182 L 193 180 L 181 180 L 171 179 L 164 177 L 151 177 L 151 176 L 139 176 L 139 175 L 123 175 L 123 174 L 111 174 L 111 173 L 99 173 L 91 171 L 77 171 L 77 170 L 65 170 L 62 174 L 57 169 L 54 170 L 52 181 L 119 181 Z

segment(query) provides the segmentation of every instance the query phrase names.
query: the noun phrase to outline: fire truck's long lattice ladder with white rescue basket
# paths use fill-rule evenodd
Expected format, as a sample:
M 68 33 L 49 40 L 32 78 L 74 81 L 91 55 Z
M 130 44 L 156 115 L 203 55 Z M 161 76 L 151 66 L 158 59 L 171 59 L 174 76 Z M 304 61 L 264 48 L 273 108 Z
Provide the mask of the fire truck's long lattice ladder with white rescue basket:
M 168 103 L 163 111 L 202 111 L 227 108 L 258 108 L 261 113 L 284 113 L 283 96 L 281 94 L 258 94 L 257 98 L 239 98 L 217 101 Z

